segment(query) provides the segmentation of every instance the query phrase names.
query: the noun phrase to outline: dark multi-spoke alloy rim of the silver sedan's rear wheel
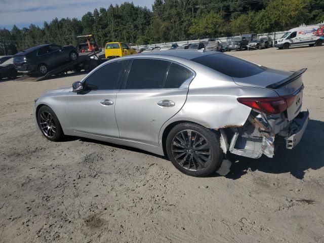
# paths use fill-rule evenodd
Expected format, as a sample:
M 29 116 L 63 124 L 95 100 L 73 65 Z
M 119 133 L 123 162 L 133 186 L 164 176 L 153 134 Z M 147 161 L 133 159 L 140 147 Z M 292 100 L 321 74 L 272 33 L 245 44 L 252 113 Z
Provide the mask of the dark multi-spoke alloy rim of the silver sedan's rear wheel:
M 172 153 L 177 163 L 189 171 L 201 171 L 212 159 L 212 147 L 208 140 L 193 130 L 183 130 L 172 140 Z

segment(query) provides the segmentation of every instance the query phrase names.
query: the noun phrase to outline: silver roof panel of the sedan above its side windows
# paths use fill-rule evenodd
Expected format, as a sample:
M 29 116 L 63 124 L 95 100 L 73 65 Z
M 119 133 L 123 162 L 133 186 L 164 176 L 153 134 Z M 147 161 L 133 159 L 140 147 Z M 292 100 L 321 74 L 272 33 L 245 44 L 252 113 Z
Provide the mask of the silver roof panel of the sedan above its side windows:
M 170 51 L 161 51 L 161 52 L 148 52 L 145 54 L 135 54 L 132 56 L 141 56 L 141 55 L 153 55 L 155 57 L 158 56 L 172 56 L 172 57 L 180 57 L 180 58 L 184 58 L 184 59 L 194 59 L 197 57 L 201 57 L 201 56 L 207 56 L 207 55 L 211 55 L 211 54 L 217 54 L 217 52 L 213 52 L 213 51 L 191 51 L 191 50 L 170 50 Z

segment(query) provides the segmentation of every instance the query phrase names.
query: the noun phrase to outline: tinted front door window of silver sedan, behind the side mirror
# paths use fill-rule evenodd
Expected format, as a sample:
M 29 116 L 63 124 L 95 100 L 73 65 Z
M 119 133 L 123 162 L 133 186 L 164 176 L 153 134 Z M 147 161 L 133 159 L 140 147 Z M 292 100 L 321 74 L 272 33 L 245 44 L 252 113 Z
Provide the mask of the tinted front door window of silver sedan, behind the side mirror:
M 93 72 L 85 82 L 86 90 L 114 90 L 119 88 L 119 80 L 126 69 L 127 60 L 106 64 Z

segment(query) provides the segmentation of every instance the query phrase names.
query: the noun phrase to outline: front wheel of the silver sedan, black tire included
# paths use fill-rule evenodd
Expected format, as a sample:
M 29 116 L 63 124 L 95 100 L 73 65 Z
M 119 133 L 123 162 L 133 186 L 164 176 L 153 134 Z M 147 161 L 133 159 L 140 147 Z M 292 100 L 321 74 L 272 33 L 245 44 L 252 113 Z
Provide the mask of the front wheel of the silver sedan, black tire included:
M 39 108 L 37 112 L 37 124 L 44 137 L 48 140 L 57 142 L 64 138 L 59 119 L 50 107 L 44 105 Z

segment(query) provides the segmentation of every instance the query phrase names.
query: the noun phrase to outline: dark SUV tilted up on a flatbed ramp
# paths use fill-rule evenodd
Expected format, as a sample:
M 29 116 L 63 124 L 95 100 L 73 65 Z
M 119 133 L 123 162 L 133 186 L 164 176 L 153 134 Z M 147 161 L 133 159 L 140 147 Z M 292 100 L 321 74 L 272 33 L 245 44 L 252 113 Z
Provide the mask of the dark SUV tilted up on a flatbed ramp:
M 45 75 L 50 70 L 78 57 L 73 46 L 41 45 L 19 52 L 14 56 L 14 65 L 18 71 Z

